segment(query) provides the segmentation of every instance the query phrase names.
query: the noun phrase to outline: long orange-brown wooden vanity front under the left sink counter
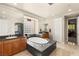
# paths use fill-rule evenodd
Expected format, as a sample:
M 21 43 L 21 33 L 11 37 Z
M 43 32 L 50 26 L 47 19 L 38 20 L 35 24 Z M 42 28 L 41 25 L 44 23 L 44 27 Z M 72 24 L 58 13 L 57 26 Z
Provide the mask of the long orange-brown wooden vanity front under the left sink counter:
M 26 49 L 25 38 L 5 40 L 3 42 L 3 55 L 10 56 Z

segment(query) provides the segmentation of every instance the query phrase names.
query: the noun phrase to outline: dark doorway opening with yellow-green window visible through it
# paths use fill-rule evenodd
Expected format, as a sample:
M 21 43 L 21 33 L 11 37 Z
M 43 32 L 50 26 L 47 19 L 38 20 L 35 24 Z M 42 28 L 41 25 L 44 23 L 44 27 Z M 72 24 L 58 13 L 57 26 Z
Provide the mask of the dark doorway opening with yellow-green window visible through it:
M 68 42 L 77 44 L 77 19 L 68 19 Z

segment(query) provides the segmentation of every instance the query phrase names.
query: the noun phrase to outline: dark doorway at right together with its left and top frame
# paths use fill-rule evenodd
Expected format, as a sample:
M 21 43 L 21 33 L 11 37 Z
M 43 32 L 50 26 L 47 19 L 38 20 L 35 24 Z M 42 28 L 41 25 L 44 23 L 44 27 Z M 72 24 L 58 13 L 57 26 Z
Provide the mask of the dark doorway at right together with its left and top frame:
M 77 18 L 65 17 L 64 23 L 64 42 L 77 44 Z

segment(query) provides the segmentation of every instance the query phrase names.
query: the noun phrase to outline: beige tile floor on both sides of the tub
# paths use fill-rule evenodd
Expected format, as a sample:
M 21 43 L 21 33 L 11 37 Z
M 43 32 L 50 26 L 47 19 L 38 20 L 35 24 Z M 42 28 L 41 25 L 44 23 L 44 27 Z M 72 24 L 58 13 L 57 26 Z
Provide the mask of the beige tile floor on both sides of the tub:
M 27 50 L 24 50 L 14 56 L 32 56 Z M 57 43 L 57 48 L 49 56 L 79 56 L 79 46 L 71 44 Z

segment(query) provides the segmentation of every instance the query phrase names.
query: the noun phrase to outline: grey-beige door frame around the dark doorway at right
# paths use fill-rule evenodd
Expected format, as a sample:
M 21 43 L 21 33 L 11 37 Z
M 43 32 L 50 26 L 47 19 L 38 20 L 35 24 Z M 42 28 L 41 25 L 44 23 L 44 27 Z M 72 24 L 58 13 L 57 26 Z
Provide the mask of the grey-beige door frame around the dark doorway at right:
M 78 17 L 67 17 L 65 16 L 64 17 L 64 43 L 67 43 L 68 44 L 68 20 L 69 19 L 76 19 L 76 35 L 78 34 L 77 33 L 77 19 Z M 77 43 L 78 44 L 78 36 L 76 36 L 76 40 L 77 40 Z

